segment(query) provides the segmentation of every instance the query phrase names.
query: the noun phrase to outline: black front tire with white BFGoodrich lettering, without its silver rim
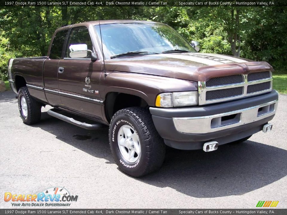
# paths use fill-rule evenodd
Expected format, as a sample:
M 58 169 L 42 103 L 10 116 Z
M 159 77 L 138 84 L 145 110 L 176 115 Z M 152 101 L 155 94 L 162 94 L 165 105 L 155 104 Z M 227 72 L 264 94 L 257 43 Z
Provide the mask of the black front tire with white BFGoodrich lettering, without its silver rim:
M 130 163 L 124 159 L 118 146 L 118 132 L 123 125 L 131 126 L 138 134 L 141 153 L 138 160 Z M 158 170 L 165 156 L 165 144 L 152 121 L 148 110 L 140 107 L 117 111 L 110 122 L 109 142 L 115 162 L 126 174 L 140 177 Z

